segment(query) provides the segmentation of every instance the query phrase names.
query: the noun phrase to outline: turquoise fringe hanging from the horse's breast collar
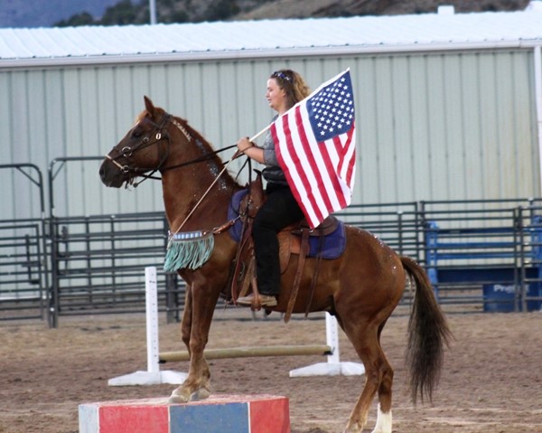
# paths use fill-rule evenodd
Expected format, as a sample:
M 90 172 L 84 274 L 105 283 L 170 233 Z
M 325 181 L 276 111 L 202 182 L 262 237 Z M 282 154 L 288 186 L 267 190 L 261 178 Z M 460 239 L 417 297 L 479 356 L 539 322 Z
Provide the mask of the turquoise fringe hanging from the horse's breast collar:
M 199 239 L 171 239 L 165 252 L 164 270 L 176 272 L 177 269 L 201 268 L 209 260 L 212 249 L 214 249 L 212 233 Z

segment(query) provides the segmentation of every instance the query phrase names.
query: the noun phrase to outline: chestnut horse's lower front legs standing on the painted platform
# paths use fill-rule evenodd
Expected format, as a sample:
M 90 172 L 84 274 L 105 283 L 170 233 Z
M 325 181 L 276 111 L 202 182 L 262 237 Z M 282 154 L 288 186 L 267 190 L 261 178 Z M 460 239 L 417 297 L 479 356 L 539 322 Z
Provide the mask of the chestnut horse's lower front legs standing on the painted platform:
M 217 300 L 218 297 L 213 299 L 204 287 L 187 286 L 181 331 L 182 341 L 191 355 L 190 369 L 182 386 L 173 391 L 170 398 L 173 403 L 204 400 L 210 396 L 210 370 L 203 350 Z

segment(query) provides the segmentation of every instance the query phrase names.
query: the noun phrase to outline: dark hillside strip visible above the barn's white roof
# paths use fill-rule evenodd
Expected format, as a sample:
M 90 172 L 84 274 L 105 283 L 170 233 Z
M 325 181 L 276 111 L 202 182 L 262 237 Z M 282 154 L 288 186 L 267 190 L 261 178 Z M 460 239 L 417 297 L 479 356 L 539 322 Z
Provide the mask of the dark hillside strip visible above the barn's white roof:
M 159 23 L 193 23 L 425 14 L 435 13 L 439 5 L 453 5 L 456 13 L 517 11 L 525 9 L 529 0 L 155 0 L 155 3 Z M 100 21 L 102 16 L 104 20 Z M 0 6 L 0 27 L 143 24 L 148 23 L 148 16 L 147 0 L 48 0 L 45 7 L 42 0 L 4 0 Z

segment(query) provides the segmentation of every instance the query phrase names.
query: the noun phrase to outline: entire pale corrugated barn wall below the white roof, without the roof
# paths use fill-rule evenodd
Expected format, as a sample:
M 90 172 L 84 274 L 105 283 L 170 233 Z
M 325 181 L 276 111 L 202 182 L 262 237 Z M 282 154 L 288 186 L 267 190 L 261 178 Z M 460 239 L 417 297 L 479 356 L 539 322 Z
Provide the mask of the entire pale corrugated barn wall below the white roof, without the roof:
M 528 50 L 0 69 L 0 164 L 30 162 L 46 176 L 54 158 L 104 155 L 144 108 L 144 95 L 187 118 L 215 147 L 232 145 L 273 116 L 266 78 L 283 67 L 313 88 L 350 67 L 354 203 L 540 194 Z M 101 185 L 98 165 L 54 165 L 55 214 L 162 210 L 160 183 L 111 190 Z M 0 170 L 0 184 L 0 220 L 38 209 L 21 174 Z

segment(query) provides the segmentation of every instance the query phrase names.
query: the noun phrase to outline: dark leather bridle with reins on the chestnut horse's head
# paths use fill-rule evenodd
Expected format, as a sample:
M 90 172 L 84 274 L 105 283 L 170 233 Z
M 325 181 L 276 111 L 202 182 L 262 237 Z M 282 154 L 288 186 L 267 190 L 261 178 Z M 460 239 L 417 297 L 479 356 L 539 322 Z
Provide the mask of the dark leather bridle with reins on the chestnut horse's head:
M 193 138 L 191 134 L 189 133 L 188 129 L 182 126 L 182 124 L 179 123 L 175 118 L 173 118 L 173 116 L 169 113 L 164 113 L 164 116 L 161 119 L 159 124 L 154 123 L 149 118 L 144 118 L 143 120 L 145 120 L 146 122 L 150 122 L 153 125 L 153 129 L 146 136 L 144 136 L 139 143 L 137 143 L 135 146 L 124 146 L 119 151 L 117 149 L 113 149 L 113 151 L 117 151 L 119 153 L 116 156 L 111 156 L 109 154 L 106 155 L 106 158 L 109 161 L 111 161 L 113 165 L 116 165 L 122 174 L 126 175 L 127 177 L 126 188 L 128 187 L 128 185 L 131 185 L 135 188 L 136 186 L 143 183 L 147 179 L 161 180 L 162 179 L 161 177 L 154 176 L 154 174 L 158 171 L 160 171 L 161 173 L 164 173 L 164 171 L 167 171 L 167 170 L 173 170 L 175 168 L 180 168 L 186 165 L 192 165 L 192 164 L 200 163 L 203 161 L 209 161 L 214 155 L 217 155 L 220 152 L 223 152 L 232 147 L 235 147 L 235 145 L 224 147 L 220 150 L 209 152 L 206 155 L 202 155 L 198 158 L 194 158 L 191 161 L 186 161 L 182 164 L 164 166 L 165 162 L 167 161 L 170 155 L 170 148 L 171 148 L 170 136 L 167 132 L 167 126 L 169 123 L 172 123 L 175 127 L 177 127 L 189 142 L 191 142 Z M 158 162 L 158 165 L 156 165 L 155 167 L 137 167 L 137 166 L 131 166 L 129 164 L 121 165 L 117 161 L 117 159 L 124 157 L 129 163 L 131 156 L 134 155 L 135 152 L 145 149 L 148 146 L 154 146 L 164 140 L 167 141 L 167 147 L 163 155 L 160 155 L 160 160 Z M 147 172 L 151 172 L 151 173 L 146 174 Z M 139 182 L 135 182 L 136 176 L 141 176 L 143 177 L 143 179 Z

